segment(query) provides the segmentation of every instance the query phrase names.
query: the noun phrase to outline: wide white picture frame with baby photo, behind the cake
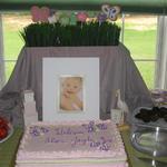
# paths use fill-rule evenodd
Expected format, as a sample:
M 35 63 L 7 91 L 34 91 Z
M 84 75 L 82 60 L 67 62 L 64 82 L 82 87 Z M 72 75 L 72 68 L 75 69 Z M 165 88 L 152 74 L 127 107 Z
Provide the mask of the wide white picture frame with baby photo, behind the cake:
M 65 85 L 80 88 L 75 95 L 72 90 L 67 91 Z M 65 95 L 62 88 L 67 91 Z M 42 59 L 42 119 L 99 119 L 99 58 Z

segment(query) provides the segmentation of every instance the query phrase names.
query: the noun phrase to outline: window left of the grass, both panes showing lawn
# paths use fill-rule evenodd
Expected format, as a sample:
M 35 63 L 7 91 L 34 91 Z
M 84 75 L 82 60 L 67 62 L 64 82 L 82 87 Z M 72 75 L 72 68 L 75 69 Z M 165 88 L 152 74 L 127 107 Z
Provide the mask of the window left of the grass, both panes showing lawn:
M 4 42 L 4 60 L 17 60 L 18 55 L 23 47 L 23 41 L 19 31 L 31 22 L 31 18 L 26 13 L 8 13 L 2 14 L 3 20 L 3 42 Z M 14 62 L 6 63 L 6 81 L 14 67 Z

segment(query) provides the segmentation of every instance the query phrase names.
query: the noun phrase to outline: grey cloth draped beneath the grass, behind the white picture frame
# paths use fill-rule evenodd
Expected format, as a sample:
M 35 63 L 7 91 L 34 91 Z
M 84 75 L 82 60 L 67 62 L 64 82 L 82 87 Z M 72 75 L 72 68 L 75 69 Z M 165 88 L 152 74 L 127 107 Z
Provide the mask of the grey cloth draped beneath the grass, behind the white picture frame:
M 151 106 L 149 91 L 124 45 L 108 47 L 43 47 L 22 48 L 14 70 L 1 94 L 35 91 L 39 119 L 42 119 L 42 58 L 43 57 L 99 57 L 100 114 L 109 116 L 115 107 L 116 90 L 132 111 L 140 106 Z M 49 73 L 48 73 L 49 75 Z

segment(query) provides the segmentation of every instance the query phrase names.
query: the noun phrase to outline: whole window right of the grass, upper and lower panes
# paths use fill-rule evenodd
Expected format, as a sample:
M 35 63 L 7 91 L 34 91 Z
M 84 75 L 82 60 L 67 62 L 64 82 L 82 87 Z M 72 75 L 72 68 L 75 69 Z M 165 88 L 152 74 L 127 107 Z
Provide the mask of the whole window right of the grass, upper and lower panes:
M 130 50 L 131 57 L 138 67 L 146 85 L 155 87 L 155 65 L 157 16 L 125 14 L 122 35 L 125 46 Z

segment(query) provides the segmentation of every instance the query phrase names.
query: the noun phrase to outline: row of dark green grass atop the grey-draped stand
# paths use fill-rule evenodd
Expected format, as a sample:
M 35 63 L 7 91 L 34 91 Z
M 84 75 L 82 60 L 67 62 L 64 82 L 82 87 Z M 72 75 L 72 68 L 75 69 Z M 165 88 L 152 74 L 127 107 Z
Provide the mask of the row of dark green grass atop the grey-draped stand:
M 20 35 L 26 47 L 118 46 L 120 28 L 112 22 L 31 23 Z

